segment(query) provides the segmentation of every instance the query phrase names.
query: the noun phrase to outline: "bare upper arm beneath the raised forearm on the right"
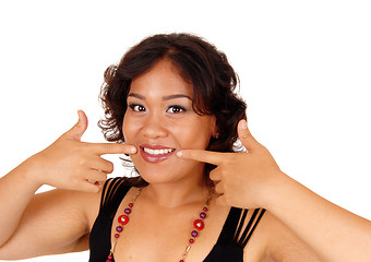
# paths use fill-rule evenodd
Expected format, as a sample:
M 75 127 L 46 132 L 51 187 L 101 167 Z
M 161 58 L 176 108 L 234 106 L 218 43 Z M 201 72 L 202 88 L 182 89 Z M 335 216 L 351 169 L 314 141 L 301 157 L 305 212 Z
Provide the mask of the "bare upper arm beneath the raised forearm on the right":
M 261 261 L 320 261 L 295 233 L 270 212 L 265 212 L 254 235 L 252 240 L 260 241 L 264 250 Z

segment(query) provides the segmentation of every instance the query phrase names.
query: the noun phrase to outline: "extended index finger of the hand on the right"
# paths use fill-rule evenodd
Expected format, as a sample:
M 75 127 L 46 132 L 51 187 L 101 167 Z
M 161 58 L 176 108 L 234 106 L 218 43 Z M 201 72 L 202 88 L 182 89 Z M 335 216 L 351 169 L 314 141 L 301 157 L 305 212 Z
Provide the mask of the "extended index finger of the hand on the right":
M 218 166 L 224 156 L 223 153 L 203 150 L 182 150 L 177 153 L 180 158 L 204 162 Z

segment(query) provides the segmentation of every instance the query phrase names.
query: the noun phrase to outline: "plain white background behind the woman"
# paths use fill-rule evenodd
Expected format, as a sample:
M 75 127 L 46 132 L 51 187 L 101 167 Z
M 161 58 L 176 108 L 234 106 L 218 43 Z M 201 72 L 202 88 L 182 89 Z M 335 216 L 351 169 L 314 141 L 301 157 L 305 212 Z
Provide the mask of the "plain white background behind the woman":
M 369 1 L 4 2 L 0 176 L 70 129 L 77 109 L 89 119 L 83 140 L 103 142 L 96 122 L 105 69 L 145 36 L 189 32 L 227 53 L 249 127 L 280 168 L 371 218 Z M 108 157 L 122 175 L 118 156 Z

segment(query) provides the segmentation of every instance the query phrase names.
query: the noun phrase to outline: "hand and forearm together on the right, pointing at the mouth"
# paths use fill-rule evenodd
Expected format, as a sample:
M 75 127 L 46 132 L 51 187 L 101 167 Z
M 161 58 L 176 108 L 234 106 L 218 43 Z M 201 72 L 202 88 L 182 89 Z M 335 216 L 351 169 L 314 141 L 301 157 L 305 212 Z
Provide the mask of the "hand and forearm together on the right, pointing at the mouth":
M 238 134 L 248 153 L 180 151 L 182 158 L 217 166 L 210 174 L 220 194 L 217 204 L 268 210 L 321 261 L 370 261 L 370 221 L 324 200 L 282 172 L 244 120 L 238 124 Z

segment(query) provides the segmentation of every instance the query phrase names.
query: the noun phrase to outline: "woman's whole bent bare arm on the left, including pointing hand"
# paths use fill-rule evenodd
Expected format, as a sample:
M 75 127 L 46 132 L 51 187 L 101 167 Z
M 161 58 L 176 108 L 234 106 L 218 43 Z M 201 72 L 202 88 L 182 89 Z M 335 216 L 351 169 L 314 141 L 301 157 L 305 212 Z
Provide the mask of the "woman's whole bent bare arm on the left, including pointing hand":
M 113 170 L 100 156 L 136 152 L 130 145 L 81 142 L 86 128 L 80 111 L 76 126 L 0 179 L 0 259 L 70 252 L 86 242 L 87 217 L 99 203 L 99 186 L 92 181 L 103 183 Z M 59 190 L 35 195 L 43 184 Z

